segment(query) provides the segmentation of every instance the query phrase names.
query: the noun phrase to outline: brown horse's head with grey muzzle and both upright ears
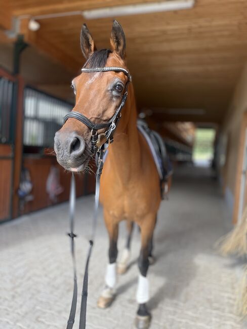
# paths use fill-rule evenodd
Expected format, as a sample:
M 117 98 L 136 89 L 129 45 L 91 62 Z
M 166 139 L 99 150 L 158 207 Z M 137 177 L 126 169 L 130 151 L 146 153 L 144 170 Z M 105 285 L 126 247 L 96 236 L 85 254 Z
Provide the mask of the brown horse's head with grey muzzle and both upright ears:
M 126 41 L 117 21 L 113 21 L 110 43 L 111 49 L 98 51 L 87 25 L 81 28 L 80 46 L 87 61 L 81 73 L 72 80 L 75 106 L 54 138 L 57 160 L 66 170 L 83 171 L 93 155 L 93 134 L 98 136 L 107 131 L 107 128 L 91 129 L 90 125 L 73 117 L 73 113 L 89 119 L 91 125 L 104 125 L 114 117 L 127 92 L 129 75 L 125 62 Z M 119 67 L 127 73 L 117 70 L 92 72 L 92 69 L 103 67 Z

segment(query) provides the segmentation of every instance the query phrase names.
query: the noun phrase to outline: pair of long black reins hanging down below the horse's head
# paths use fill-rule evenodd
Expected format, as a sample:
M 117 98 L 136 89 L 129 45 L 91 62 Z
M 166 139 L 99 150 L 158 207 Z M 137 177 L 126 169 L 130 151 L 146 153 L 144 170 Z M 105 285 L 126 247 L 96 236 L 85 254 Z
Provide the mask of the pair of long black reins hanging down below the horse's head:
M 100 176 L 102 174 L 102 169 L 103 169 L 103 165 L 104 165 L 103 155 L 104 155 L 104 150 L 100 149 L 99 159 L 98 159 L 98 169 L 96 172 L 96 190 L 95 190 L 95 207 L 94 207 L 94 216 L 93 216 L 93 226 L 92 226 L 91 239 L 89 240 L 89 251 L 88 251 L 85 272 L 84 272 L 83 291 L 81 293 L 79 329 L 86 328 L 89 261 L 90 261 L 90 257 L 91 257 L 91 253 L 92 253 L 94 237 L 95 237 L 95 233 L 96 233 L 96 226 L 97 226 L 98 209 L 99 209 L 99 195 L 100 195 Z M 70 204 L 70 207 L 69 207 L 69 210 L 70 210 L 69 211 L 70 233 L 68 233 L 68 235 L 71 238 L 71 255 L 72 255 L 73 269 L 74 269 L 74 290 L 73 290 L 72 304 L 71 304 L 71 309 L 70 309 L 70 314 L 69 314 L 69 319 L 68 319 L 66 329 L 73 328 L 75 311 L 76 311 L 76 303 L 77 303 L 77 278 L 76 278 L 76 263 L 75 263 L 75 256 L 74 256 L 74 237 L 76 235 L 73 233 L 74 210 L 75 210 L 75 181 L 74 181 L 73 174 L 71 177 L 69 204 Z

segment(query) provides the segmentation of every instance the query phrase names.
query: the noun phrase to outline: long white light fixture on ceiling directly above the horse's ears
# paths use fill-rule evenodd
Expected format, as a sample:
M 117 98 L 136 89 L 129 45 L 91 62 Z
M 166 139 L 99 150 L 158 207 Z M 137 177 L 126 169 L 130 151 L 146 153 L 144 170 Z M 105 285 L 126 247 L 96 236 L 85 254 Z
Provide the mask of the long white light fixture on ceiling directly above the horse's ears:
M 129 6 L 105 7 L 91 10 L 84 10 L 83 16 L 86 19 L 97 19 L 106 17 L 129 16 L 166 12 L 173 10 L 190 9 L 194 6 L 195 0 L 167 0 L 162 2 L 145 3 Z

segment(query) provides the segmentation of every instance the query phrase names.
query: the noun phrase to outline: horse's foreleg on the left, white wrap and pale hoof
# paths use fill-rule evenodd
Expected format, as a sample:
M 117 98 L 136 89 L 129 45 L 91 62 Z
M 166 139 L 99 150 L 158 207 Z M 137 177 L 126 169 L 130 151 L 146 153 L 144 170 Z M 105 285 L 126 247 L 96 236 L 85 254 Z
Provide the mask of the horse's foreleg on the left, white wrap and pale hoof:
M 116 258 L 117 258 L 117 237 L 118 223 L 112 222 L 108 214 L 104 214 L 105 224 L 109 234 L 109 263 L 105 274 L 105 287 L 98 299 L 98 307 L 106 308 L 111 305 L 115 298 L 116 285 Z

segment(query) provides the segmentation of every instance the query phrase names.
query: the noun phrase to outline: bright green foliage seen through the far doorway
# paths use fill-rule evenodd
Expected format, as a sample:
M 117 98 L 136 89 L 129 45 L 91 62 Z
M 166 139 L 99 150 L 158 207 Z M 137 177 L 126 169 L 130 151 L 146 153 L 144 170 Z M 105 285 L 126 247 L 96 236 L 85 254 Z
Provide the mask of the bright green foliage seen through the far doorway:
M 214 155 L 215 130 L 197 128 L 193 147 L 194 160 L 211 160 Z

